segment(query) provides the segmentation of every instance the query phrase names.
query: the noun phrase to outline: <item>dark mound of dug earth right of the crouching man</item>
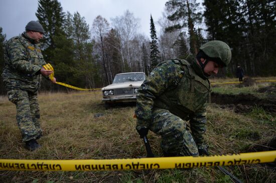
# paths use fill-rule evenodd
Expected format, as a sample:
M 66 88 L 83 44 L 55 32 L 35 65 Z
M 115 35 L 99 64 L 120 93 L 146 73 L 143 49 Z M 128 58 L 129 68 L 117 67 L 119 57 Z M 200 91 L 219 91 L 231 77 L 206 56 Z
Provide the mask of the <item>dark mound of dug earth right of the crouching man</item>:
M 234 105 L 236 113 L 250 112 L 254 106 L 261 107 L 270 113 L 276 113 L 276 98 L 259 99 L 251 94 L 227 95 L 211 93 L 211 102 L 220 105 Z

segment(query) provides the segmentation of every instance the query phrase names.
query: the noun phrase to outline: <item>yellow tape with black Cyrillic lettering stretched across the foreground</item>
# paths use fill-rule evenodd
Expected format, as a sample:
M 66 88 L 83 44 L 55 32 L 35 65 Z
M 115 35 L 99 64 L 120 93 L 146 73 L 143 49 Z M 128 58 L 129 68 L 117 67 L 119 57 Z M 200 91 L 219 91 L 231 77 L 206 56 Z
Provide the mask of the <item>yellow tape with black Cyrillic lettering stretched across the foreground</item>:
M 276 163 L 276 151 L 205 157 L 154 157 L 136 159 L 22 160 L 0 159 L 0 170 L 99 171 L 129 169 L 193 168 L 257 163 Z

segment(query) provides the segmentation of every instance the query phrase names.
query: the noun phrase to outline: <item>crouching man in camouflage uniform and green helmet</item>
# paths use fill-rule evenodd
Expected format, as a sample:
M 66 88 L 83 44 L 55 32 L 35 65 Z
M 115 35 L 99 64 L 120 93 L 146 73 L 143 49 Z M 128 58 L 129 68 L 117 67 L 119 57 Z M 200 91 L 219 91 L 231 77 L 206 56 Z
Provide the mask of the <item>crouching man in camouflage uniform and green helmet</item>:
M 222 41 L 200 47 L 196 58 L 160 63 L 138 90 L 135 115 L 141 138 L 149 129 L 161 135 L 164 156 L 207 154 L 206 103 L 210 99 L 208 77 L 228 65 L 231 50 Z M 190 130 L 187 122 L 190 123 Z

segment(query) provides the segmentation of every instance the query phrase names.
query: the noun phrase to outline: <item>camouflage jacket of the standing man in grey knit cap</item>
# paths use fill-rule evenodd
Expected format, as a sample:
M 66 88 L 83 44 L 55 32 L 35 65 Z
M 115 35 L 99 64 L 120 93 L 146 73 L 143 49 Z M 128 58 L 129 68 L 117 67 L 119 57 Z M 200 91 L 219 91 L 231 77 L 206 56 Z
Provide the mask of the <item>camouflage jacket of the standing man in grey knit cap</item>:
M 40 44 L 23 33 L 11 38 L 5 45 L 4 52 L 2 78 L 6 89 L 38 90 L 41 79 L 39 70 L 46 64 Z

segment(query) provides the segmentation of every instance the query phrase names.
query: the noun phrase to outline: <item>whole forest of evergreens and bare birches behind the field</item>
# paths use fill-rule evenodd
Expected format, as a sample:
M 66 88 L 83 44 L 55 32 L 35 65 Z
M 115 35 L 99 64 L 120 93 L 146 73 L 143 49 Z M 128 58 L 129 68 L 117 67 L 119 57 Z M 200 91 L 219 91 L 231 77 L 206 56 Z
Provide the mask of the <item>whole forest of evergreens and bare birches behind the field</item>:
M 162 61 L 195 55 L 210 40 L 222 40 L 232 50 L 230 65 L 217 77 L 234 77 L 237 64 L 247 76 L 273 76 L 275 10 L 274 0 L 204 0 L 202 5 L 196 0 L 169 0 L 162 18 L 153 20 L 149 15 L 150 38 L 137 32 L 139 19 L 128 10 L 110 22 L 101 15 L 85 20 L 78 12 L 64 12 L 58 0 L 39 0 L 36 17 L 45 29 L 44 59 L 54 67 L 57 81 L 99 88 L 110 84 L 117 73 L 149 74 Z M 162 28 L 159 35 L 155 24 Z M 1 73 L 6 41 L 0 25 Z M 65 89 L 42 82 L 42 90 Z M 6 90 L 0 78 L 3 94 Z

